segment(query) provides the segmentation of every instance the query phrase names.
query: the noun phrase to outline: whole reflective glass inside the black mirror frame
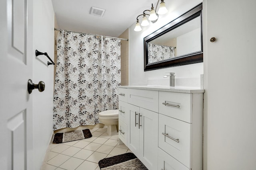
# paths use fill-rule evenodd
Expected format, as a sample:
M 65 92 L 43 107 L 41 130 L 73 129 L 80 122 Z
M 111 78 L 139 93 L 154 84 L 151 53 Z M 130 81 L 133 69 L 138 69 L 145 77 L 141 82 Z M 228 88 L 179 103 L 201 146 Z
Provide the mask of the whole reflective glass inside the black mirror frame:
M 148 63 L 201 51 L 200 17 L 148 42 Z

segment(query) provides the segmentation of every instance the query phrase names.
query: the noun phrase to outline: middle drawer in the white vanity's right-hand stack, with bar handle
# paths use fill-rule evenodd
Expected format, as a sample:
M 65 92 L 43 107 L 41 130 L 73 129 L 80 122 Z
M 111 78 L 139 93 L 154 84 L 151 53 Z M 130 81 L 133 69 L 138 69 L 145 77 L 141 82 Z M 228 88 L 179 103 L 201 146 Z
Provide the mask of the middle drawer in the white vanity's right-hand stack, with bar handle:
M 187 167 L 191 160 L 190 130 L 190 123 L 159 114 L 158 147 Z

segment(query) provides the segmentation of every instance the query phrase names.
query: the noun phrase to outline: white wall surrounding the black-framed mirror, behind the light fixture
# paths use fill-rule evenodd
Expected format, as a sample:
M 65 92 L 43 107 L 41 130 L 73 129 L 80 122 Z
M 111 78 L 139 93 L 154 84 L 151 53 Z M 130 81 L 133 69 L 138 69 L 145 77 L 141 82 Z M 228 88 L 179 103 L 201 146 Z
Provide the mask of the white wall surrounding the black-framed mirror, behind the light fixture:
M 168 14 L 160 15 L 156 23 L 142 27 L 142 31 L 134 31 L 129 27 L 129 85 L 146 85 L 147 80 L 162 79 L 166 72 L 175 72 L 176 78 L 199 78 L 203 74 L 203 63 L 176 66 L 144 72 L 143 39 L 150 33 L 178 18 L 181 14 L 200 4 L 202 0 L 172 0 L 166 1 Z M 149 4 L 150 9 L 150 4 Z M 146 10 L 146 9 L 145 9 Z M 135 20 L 136 18 L 134 18 Z

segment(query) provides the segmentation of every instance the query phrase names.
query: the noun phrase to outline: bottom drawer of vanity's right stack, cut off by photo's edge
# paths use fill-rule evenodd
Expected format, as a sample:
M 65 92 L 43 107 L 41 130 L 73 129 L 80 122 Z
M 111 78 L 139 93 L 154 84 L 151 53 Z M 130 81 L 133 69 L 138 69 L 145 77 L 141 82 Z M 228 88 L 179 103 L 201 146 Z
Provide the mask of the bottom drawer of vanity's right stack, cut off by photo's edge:
M 189 168 L 158 148 L 158 170 L 189 170 Z

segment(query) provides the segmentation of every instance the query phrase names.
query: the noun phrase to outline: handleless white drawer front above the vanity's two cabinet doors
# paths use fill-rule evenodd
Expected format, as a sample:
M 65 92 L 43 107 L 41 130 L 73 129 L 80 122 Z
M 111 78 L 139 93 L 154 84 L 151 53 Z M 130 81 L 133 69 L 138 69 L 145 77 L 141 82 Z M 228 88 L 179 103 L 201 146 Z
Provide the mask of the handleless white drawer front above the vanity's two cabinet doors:
M 129 89 L 127 102 L 144 109 L 158 112 L 158 91 Z

